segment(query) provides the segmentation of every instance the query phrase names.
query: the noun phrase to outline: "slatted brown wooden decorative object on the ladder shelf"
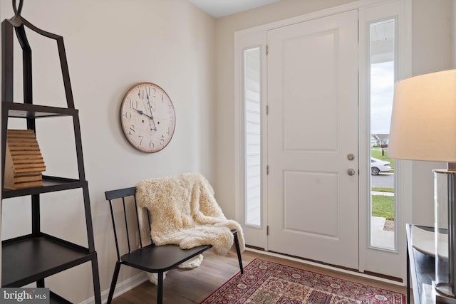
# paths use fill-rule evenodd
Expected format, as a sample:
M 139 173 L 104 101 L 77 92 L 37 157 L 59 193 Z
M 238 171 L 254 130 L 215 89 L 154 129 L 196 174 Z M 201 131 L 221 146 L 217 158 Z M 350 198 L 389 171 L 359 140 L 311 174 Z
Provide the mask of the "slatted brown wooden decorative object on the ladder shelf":
M 8 130 L 5 157 L 6 189 L 43 185 L 46 166 L 33 130 Z

